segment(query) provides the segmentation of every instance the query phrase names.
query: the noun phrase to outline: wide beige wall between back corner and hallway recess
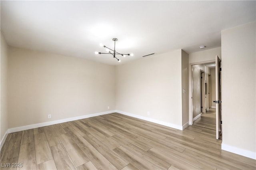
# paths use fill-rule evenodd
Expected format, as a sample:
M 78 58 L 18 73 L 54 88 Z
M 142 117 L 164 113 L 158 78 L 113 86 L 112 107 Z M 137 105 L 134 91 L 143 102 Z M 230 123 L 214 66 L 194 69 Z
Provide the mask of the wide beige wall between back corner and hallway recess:
M 181 49 L 117 66 L 116 109 L 181 126 L 181 70 Z

